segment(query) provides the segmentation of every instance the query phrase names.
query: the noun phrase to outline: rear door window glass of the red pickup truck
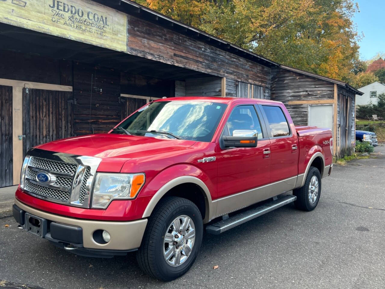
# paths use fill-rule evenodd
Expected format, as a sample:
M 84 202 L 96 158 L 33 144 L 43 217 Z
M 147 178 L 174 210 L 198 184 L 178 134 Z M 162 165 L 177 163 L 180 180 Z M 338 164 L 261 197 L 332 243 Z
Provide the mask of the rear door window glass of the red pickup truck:
M 290 135 L 290 129 L 288 122 L 283 114 L 282 109 L 279 106 L 262 106 L 264 113 L 266 114 L 267 121 L 271 130 L 271 136 L 273 138 L 277 136 Z

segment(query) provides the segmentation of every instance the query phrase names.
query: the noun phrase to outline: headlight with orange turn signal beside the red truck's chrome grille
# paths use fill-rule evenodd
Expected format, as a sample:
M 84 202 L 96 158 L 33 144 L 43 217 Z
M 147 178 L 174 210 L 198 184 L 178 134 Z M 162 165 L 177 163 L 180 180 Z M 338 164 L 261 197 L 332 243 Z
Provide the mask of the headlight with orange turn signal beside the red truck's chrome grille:
M 130 200 L 144 185 L 146 176 L 139 174 L 97 173 L 92 190 L 92 208 L 107 208 L 112 200 Z

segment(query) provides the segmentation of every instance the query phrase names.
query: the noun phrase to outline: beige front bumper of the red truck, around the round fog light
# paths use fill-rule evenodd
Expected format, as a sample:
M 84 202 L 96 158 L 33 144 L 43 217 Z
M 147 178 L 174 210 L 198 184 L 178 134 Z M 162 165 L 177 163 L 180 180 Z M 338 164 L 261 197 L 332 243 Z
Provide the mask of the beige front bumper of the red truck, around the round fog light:
M 25 205 L 17 199 L 15 199 L 15 204 L 25 212 L 37 217 L 82 228 L 83 246 L 88 249 L 131 250 L 139 248 L 147 225 L 147 219 L 128 222 L 83 220 L 37 210 Z M 92 237 L 95 230 L 106 230 L 109 232 L 111 236 L 110 242 L 107 244 L 95 242 Z

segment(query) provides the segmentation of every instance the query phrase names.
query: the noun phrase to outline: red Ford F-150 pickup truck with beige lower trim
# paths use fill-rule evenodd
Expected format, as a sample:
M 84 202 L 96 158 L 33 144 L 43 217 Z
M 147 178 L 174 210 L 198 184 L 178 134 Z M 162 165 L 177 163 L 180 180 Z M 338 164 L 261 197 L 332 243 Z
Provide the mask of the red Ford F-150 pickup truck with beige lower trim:
M 220 234 L 290 202 L 313 210 L 332 150 L 330 129 L 295 127 L 281 102 L 161 99 L 109 133 L 29 150 L 13 216 L 78 255 L 136 250 L 144 272 L 172 280 L 204 228 Z

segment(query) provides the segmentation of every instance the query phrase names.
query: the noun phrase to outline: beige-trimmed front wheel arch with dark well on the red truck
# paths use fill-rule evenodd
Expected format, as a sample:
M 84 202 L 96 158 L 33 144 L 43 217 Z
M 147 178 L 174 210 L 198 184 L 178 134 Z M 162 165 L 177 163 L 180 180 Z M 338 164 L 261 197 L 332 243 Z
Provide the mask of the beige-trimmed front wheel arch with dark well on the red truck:
M 191 188 L 191 186 L 195 186 L 195 187 Z M 191 188 L 192 190 L 195 189 L 194 191 L 197 193 L 197 195 L 196 197 L 192 197 L 192 195 L 189 194 L 189 192 L 187 192 L 187 194 L 184 195 L 184 193 L 186 192 L 180 193 L 178 188 L 179 189 Z M 150 202 L 148 203 L 146 210 L 144 210 L 142 217 L 143 218 L 150 217 L 157 203 L 163 197 L 166 197 L 166 196 L 186 198 L 194 202 L 199 208 L 199 210 L 201 211 L 201 213 L 204 212 L 204 216 L 202 216 L 203 223 L 209 222 L 212 219 L 212 215 L 215 215 L 216 213 L 216 208 L 214 208 L 214 205 L 216 204 L 215 203 L 213 204 L 213 201 L 211 199 L 211 194 L 206 184 L 195 176 L 179 176 L 177 178 L 174 178 L 168 181 L 155 193 L 155 195 L 151 198 Z M 202 200 L 203 200 L 203 203 L 202 203 Z

